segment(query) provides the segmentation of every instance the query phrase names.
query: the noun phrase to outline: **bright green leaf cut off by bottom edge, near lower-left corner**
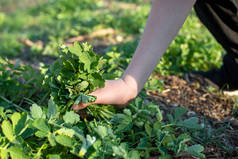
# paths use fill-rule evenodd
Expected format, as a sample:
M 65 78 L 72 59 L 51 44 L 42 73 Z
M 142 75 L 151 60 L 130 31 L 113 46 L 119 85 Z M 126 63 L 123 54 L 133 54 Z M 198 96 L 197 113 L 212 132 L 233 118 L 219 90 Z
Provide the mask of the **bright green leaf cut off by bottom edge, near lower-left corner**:
M 7 149 L 12 159 L 30 159 L 22 147 L 11 146 Z

